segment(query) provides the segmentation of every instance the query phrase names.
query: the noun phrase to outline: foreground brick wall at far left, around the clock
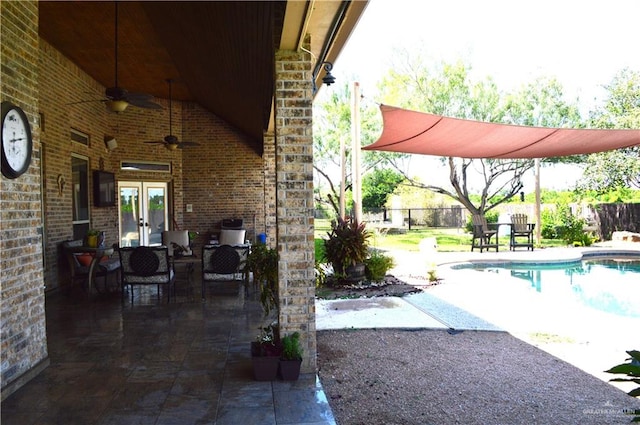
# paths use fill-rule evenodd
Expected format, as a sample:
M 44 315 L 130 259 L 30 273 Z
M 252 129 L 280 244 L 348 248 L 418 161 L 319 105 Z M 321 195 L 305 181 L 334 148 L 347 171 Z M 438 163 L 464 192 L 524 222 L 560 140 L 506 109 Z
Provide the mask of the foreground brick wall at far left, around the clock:
M 31 166 L 0 176 L 0 352 L 2 398 L 47 363 L 42 270 L 38 3 L 0 2 L 0 94 L 20 106 L 33 136 Z

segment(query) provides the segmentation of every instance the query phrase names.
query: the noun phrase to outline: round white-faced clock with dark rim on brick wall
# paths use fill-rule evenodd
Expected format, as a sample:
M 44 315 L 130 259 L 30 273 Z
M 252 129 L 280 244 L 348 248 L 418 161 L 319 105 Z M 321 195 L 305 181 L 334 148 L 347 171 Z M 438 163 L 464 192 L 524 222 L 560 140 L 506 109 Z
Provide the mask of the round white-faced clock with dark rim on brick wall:
M 24 111 L 10 102 L 2 102 L 2 174 L 20 177 L 31 164 L 31 127 Z

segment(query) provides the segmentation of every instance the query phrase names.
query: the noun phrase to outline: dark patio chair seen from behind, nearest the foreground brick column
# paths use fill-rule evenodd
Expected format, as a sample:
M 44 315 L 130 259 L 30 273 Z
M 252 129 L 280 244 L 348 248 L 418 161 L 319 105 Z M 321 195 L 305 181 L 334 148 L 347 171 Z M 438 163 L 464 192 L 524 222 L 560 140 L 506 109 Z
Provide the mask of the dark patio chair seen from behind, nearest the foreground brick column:
M 249 246 L 205 245 L 202 247 L 202 299 L 211 282 L 244 281 L 248 292 L 249 271 L 246 268 Z

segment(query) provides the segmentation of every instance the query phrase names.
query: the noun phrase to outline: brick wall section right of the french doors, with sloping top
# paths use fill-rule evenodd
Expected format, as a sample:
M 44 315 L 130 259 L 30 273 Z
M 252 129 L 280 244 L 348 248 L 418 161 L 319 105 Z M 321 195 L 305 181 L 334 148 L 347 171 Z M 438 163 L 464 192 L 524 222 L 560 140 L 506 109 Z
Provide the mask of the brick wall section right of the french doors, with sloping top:
M 183 109 L 183 140 L 200 146 L 183 152 L 184 228 L 200 232 L 199 242 L 217 233 L 225 218 L 242 218 L 247 239 L 265 230 L 265 174 L 263 158 L 245 137 L 197 104 Z M 178 212 L 177 212 L 178 213 Z

